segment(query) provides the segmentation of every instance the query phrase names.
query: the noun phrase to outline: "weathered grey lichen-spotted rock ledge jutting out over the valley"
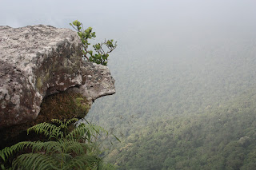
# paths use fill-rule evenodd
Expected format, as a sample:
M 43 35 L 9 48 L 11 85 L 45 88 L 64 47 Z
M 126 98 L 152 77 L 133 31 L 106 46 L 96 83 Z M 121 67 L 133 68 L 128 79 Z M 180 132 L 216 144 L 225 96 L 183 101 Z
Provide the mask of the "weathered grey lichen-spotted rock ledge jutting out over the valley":
M 90 103 L 115 93 L 106 66 L 82 61 L 73 30 L 0 26 L 0 128 L 33 121 L 44 97 L 70 90 Z

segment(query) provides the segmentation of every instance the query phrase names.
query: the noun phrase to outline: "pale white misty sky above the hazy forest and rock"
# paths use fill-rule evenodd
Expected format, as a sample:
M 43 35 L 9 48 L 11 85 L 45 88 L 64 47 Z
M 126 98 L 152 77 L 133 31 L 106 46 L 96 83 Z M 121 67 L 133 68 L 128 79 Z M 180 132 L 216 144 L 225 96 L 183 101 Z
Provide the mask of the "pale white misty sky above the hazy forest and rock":
M 164 55 L 186 45 L 218 44 L 216 38 L 256 39 L 256 0 L 0 0 L 0 5 L 0 26 L 72 29 L 69 23 L 78 19 L 93 27 L 97 38 L 117 40 L 123 57 L 124 49 Z

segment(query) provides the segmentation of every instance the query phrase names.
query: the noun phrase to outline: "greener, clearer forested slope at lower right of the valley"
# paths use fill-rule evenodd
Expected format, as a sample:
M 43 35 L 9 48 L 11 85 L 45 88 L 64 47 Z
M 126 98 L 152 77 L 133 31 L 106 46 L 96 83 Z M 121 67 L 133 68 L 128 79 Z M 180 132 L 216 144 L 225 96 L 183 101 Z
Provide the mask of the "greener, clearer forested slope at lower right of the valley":
M 256 167 L 256 89 L 207 107 L 203 114 L 170 116 L 138 128 L 109 160 L 120 169 L 242 169 Z

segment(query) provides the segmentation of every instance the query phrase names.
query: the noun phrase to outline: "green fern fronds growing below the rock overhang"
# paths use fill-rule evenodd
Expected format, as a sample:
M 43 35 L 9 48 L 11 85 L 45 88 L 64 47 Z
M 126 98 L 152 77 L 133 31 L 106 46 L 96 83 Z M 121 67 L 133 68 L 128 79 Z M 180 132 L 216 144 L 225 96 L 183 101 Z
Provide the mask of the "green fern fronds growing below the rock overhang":
M 113 169 L 110 164 L 103 164 L 98 156 L 101 152 L 92 142 L 107 131 L 87 121 L 87 124 L 70 131 L 70 125 L 76 121 L 78 119 L 53 119 L 52 122 L 57 125 L 46 122 L 34 125 L 27 129 L 27 133 L 43 134 L 50 141 L 22 141 L 2 149 L 0 156 L 6 161 L 14 152 L 30 151 L 17 156 L 10 169 Z M 3 164 L 1 168 L 6 169 Z

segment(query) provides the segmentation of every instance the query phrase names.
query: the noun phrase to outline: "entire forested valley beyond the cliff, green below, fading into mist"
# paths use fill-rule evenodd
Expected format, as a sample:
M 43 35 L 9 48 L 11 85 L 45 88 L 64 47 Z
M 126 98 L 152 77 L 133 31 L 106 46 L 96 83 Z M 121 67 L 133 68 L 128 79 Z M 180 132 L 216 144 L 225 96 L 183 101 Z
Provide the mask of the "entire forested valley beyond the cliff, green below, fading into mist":
M 119 169 L 254 169 L 255 43 L 216 38 L 177 45 L 162 60 L 114 58 L 117 93 L 87 117 L 122 139 L 106 160 Z

